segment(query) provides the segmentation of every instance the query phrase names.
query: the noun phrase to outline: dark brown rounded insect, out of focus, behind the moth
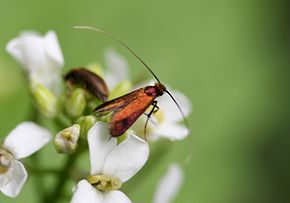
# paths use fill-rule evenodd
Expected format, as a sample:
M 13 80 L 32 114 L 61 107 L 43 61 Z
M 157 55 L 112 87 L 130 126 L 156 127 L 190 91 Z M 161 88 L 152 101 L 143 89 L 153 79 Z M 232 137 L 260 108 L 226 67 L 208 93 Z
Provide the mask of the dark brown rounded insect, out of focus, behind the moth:
M 69 84 L 81 85 L 102 102 L 105 102 L 108 99 L 109 90 L 105 81 L 97 74 L 85 68 L 72 69 L 64 76 L 64 79 Z

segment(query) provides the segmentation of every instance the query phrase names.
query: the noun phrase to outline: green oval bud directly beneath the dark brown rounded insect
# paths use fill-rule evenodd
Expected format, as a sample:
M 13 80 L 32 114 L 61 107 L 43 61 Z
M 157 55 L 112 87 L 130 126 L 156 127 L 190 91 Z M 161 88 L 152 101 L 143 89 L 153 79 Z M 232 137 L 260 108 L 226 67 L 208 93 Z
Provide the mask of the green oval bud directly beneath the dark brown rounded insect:
M 81 116 L 86 107 L 86 92 L 82 88 L 73 90 L 65 101 L 65 110 L 72 117 Z

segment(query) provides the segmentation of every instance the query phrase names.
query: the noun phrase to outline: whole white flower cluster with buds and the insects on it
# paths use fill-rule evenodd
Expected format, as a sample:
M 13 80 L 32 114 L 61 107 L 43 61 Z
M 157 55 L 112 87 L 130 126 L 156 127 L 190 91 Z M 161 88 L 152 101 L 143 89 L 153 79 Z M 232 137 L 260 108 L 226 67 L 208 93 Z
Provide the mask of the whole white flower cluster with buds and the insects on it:
M 189 134 L 172 99 L 160 95 L 151 98 L 155 93 L 147 93 L 144 87 L 155 88 L 152 82 L 131 83 L 128 63 L 112 48 L 105 51 L 105 69 L 100 64 L 72 69 L 64 78 L 65 85 L 61 83 L 64 59 L 55 32 L 45 36 L 23 32 L 8 42 L 6 50 L 25 70 L 40 116 L 50 119 L 53 130 L 58 131 L 53 139 L 56 151 L 68 157 L 89 154 L 90 172 L 78 173 L 81 178 L 73 189 L 71 203 L 131 202 L 120 188 L 146 164 L 149 143 L 182 140 Z M 138 87 L 142 91 L 134 93 Z M 180 91 L 168 91 L 188 116 L 189 99 Z M 142 103 L 143 97 L 149 101 L 147 106 Z M 153 101 L 159 107 L 151 106 Z M 93 111 L 96 107 L 101 109 L 98 113 Z M 37 119 L 19 124 L 0 147 L 0 190 L 7 196 L 16 197 L 27 179 L 19 159 L 51 140 L 49 130 L 36 123 Z M 153 202 L 170 202 L 182 180 L 181 167 L 171 165 L 158 184 Z M 61 197 L 50 198 L 56 201 Z

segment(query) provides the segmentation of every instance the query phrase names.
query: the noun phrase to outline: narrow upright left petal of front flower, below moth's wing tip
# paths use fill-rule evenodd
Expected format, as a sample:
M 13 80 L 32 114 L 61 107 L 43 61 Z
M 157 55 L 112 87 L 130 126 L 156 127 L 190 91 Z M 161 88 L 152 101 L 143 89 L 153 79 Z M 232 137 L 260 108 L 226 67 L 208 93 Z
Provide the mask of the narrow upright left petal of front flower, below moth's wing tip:
M 103 172 L 105 158 L 117 145 L 117 139 L 111 138 L 106 123 L 97 122 L 88 132 L 88 143 L 91 174 L 101 174 Z

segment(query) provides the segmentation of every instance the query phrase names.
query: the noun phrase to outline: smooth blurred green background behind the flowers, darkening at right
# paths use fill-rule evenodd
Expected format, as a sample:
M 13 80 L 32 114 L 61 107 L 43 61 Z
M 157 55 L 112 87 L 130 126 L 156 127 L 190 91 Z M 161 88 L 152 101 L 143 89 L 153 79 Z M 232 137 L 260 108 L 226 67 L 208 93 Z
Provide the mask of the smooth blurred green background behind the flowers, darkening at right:
M 0 0 L 1 139 L 29 112 L 21 69 L 4 50 L 23 30 L 55 30 L 66 70 L 102 61 L 113 46 L 133 74 L 145 72 L 114 42 L 72 29 L 94 25 L 135 49 L 194 105 L 193 158 L 175 202 L 290 202 L 289 16 L 284 0 Z M 133 202 L 151 202 L 168 164 L 186 155 L 186 142 L 171 145 L 156 170 L 142 174 L 128 193 Z M 52 145 L 41 156 L 53 164 Z M 0 202 L 38 202 L 34 182 L 16 199 L 0 194 Z

